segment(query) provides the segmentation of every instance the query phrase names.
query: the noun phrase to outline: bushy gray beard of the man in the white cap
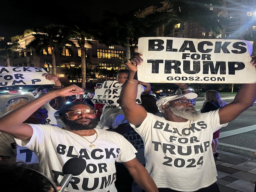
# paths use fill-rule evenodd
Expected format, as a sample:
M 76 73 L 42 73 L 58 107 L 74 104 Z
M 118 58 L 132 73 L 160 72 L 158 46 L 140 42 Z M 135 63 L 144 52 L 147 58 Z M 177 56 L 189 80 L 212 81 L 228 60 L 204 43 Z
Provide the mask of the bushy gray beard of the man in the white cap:
M 188 108 L 185 108 L 184 110 L 180 110 L 177 108 L 169 107 L 169 109 L 172 111 L 172 113 L 176 116 L 182 117 L 184 119 L 195 121 L 197 120 L 201 114 L 198 111 L 190 111 Z

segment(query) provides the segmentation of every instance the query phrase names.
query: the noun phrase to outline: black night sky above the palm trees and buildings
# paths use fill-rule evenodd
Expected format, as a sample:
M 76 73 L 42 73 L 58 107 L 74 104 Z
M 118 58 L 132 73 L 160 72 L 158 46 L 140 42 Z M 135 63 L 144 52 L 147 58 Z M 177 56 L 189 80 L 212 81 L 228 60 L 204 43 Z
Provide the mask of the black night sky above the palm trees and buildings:
M 47 2 L 48 4 L 43 4 Z M 137 3 L 136 3 L 137 2 Z M 139 3 L 138 3 L 139 2 Z M 59 21 L 76 20 L 85 15 L 92 22 L 99 21 L 104 11 L 126 13 L 157 5 L 160 0 L 72 0 L 64 1 L 1 1 L 0 37 L 23 35 L 24 30 L 46 26 Z M 71 5 L 72 3 L 72 5 Z

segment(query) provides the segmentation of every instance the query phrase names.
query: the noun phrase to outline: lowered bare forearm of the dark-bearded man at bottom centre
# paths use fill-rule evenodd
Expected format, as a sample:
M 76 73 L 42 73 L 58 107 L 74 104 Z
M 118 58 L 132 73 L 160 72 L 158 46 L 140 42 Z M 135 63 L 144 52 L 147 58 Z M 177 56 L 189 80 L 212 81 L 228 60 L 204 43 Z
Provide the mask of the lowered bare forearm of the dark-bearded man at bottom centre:
M 137 167 L 135 172 L 130 172 L 134 181 L 143 188 L 146 192 L 157 192 L 158 189 L 154 180 L 148 174 L 148 171 L 143 165 Z

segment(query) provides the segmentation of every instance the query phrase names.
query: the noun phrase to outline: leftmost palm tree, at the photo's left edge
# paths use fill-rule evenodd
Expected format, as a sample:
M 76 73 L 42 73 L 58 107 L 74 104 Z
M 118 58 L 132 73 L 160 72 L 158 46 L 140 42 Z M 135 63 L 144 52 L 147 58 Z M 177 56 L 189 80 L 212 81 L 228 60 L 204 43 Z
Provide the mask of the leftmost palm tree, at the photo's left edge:
M 15 55 L 17 49 L 22 49 L 19 47 L 20 44 L 12 41 L 11 39 L 0 39 L 0 58 L 5 60 L 5 65 L 10 67 L 10 58 Z

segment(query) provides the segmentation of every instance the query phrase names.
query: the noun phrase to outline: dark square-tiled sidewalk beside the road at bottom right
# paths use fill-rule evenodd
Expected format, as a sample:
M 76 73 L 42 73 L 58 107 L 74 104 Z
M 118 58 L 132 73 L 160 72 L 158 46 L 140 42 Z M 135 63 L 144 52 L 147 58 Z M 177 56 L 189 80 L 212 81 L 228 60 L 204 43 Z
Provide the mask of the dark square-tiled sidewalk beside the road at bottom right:
M 256 159 L 218 151 L 216 162 L 220 192 L 254 192 L 256 181 Z M 132 192 L 141 192 L 134 185 Z

